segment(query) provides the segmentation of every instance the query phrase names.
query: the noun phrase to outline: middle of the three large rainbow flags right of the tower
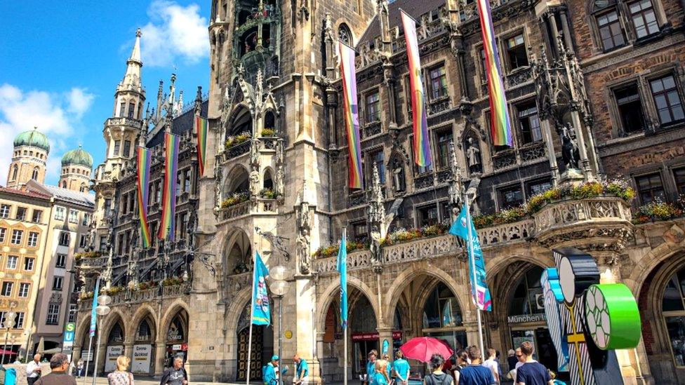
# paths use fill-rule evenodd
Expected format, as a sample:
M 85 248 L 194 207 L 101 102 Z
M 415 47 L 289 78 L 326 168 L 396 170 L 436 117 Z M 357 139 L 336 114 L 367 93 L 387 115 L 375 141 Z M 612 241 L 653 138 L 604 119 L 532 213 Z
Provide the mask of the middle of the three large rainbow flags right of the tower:
M 421 81 L 421 59 L 418 56 L 418 38 L 416 37 L 416 20 L 402 13 L 402 25 L 409 65 L 409 83 L 411 83 L 411 112 L 414 122 L 414 162 L 418 166 L 430 166 L 430 138 L 428 137 L 428 121 L 426 119 L 425 93 Z

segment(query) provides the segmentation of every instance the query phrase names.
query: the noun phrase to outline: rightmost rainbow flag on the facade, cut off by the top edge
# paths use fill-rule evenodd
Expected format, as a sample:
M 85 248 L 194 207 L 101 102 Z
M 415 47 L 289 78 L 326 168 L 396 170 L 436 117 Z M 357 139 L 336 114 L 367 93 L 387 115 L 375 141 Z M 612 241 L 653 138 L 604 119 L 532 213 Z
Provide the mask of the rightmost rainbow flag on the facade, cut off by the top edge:
M 488 0 L 477 0 L 477 2 L 487 66 L 486 73 L 488 74 L 488 91 L 490 93 L 490 132 L 494 145 L 513 147 L 512 126 L 507 109 L 507 95 L 502 81 L 500 56 L 495 42 L 490 2 Z

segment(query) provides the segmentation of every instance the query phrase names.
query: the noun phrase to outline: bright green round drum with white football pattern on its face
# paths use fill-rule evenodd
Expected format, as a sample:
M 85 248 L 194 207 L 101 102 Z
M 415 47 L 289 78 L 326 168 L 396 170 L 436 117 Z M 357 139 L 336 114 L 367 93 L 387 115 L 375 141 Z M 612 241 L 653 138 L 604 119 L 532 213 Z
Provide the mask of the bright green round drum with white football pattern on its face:
M 637 346 L 641 322 L 637 302 L 623 283 L 600 283 L 585 293 L 585 323 L 601 350 Z

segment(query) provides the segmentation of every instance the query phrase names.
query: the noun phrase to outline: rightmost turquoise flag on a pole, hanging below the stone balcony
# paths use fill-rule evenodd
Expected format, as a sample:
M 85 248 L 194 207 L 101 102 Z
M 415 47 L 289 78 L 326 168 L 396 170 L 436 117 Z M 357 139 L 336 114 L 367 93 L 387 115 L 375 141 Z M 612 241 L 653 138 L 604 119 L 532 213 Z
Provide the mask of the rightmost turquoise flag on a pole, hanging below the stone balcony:
M 470 236 L 469 229 L 471 232 Z M 462 206 L 459 217 L 450 227 L 449 233 L 462 238 L 466 242 L 469 252 L 471 295 L 474 303 L 478 306 L 478 309 L 491 311 L 492 297 L 490 297 L 490 289 L 488 289 L 488 284 L 485 281 L 485 259 L 481 250 L 481 242 L 478 240 L 476 227 L 474 227 L 473 220 L 468 215 L 466 205 Z

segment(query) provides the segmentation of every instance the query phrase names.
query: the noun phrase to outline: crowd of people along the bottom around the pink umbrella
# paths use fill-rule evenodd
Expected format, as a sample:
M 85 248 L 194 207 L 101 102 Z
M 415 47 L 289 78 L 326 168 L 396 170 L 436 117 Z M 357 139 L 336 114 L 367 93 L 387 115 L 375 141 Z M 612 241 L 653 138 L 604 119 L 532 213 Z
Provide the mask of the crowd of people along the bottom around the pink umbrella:
M 551 370 L 533 358 L 535 349 L 531 342 L 524 342 L 507 357 L 508 371 L 503 374 L 495 349 L 487 349 L 483 359 L 477 346 L 460 349 L 452 357 L 439 353 L 432 355 L 428 366 L 430 374 L 423 377 L 425 385 L 499 385 L 512 380 L 514 385 L 565 385 L 556 379 Z M 361 377 L 364 385 L 409 385 L 418 381 L 411 376 L 409 363 L 401 351 L 395 353 L 391 363 L 387 354 L 378 358 L 378 351 L 368 353 L 366 374 Z

